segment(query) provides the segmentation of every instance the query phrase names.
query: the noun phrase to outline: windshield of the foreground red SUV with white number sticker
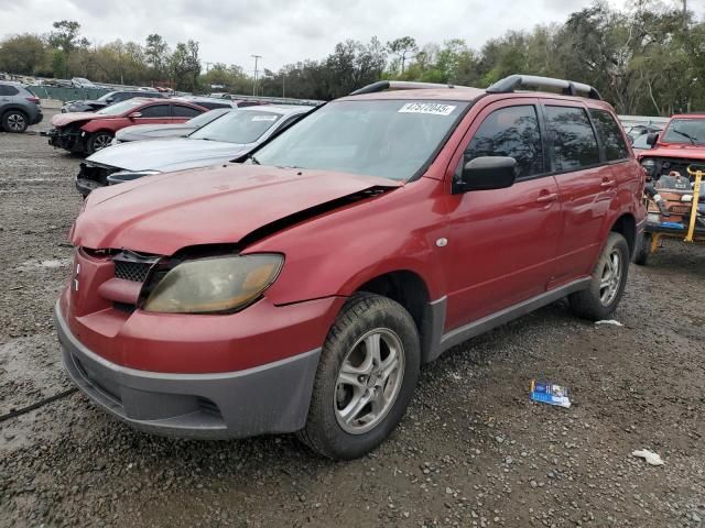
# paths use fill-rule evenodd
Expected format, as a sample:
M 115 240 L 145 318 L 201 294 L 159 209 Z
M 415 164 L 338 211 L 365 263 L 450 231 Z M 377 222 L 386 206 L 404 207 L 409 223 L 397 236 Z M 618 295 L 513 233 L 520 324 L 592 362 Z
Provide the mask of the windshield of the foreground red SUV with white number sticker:
M 262 165 L 408 180 L 429 161 L 467 106 L 460 101 L 332 102 L 254 156 Z

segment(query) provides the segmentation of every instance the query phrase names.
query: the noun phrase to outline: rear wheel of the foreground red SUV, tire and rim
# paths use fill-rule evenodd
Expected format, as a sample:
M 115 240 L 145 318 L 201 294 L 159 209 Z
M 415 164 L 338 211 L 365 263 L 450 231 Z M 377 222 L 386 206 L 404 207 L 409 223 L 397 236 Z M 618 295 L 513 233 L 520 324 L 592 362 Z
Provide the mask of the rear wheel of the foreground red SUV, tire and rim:
M 615 312 L 625 293 L 628 273 L 627 240 L 619 233 L 610 232 L 593 271 L 589 287 L 568 296 L 571 308 L 577 316 L 586 319 L 607 319 Z M 609 284 L 605 286 L 605 283 Z

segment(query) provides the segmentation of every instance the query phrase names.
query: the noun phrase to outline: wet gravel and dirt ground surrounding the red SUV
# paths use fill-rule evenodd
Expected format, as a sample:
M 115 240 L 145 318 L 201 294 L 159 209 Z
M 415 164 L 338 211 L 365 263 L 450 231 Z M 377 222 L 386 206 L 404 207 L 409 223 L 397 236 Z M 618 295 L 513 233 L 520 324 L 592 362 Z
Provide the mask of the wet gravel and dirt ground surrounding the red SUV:
M 0 134 L 0 415 L 69 387 L 52 307 L 68 275 L 79 160 Z M 616 315 L 556 304 L 422 372 L 370 457 L 321 460 L 290 436 L 149 437 L 73 394 L 0 424 L 0 526 L 702 526 L 705 248 L 631 268 Z M 532 377 L 574 406 L 529 400 Z M 649 448 L 664 460 L 631 457 Z

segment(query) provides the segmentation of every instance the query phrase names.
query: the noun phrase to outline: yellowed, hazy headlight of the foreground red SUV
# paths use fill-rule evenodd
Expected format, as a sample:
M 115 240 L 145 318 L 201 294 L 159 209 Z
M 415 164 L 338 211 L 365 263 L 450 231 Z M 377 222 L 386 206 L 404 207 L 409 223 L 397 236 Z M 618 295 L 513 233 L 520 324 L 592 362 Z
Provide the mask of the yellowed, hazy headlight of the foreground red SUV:
M 208 314 L 245 308 L 274 282 L 284 263 L 276 254 L 187 261 L 160 280 L 145 311 Z

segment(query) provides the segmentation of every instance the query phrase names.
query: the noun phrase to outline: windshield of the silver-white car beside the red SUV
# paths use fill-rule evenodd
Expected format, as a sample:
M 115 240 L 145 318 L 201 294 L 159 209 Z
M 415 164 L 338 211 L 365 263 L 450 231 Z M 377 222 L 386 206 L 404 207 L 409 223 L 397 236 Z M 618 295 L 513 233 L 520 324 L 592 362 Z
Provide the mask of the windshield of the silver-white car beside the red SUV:
M 226 143 L 252 143 L 281 118 L 281 114 L 273 112 L 234 110 L 202 127 L 188 138 Z

